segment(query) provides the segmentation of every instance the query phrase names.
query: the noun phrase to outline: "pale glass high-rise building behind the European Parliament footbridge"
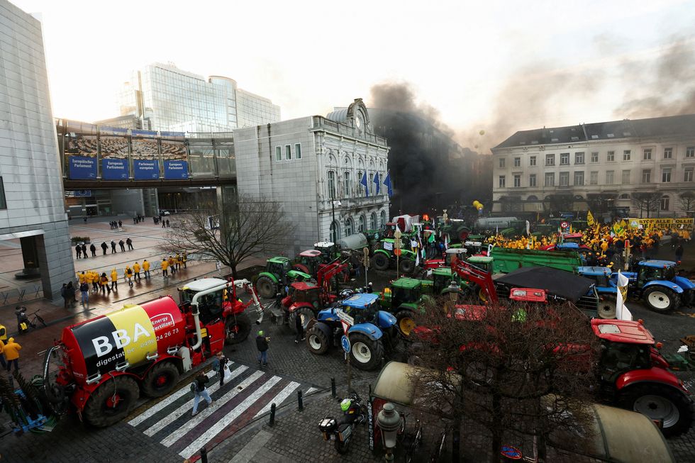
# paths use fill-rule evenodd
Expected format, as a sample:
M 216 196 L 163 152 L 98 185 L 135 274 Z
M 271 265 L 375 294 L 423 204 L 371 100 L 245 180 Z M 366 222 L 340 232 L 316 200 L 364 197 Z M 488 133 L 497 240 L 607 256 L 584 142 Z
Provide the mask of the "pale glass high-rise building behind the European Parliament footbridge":
M 277 122 L 280 108 L 237 89 L 227 77 L 208 80 L 174 65 L 152 64 L 133 72 L 118 94 L 121 116 L 141 116 L 151 130 L 225 132 Z

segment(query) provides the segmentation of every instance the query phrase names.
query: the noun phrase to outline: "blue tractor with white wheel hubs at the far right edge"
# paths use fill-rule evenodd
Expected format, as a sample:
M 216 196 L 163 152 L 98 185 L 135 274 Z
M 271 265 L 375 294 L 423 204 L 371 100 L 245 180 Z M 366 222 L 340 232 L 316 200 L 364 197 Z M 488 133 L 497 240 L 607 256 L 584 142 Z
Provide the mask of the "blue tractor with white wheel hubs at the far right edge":
M 676 265 L 670 260 L 643 260 L 638 263 L 637 272 L 623 272 L 623 275 L 628 277 L 633 294 L 638 294 L 648 308 L 665 313 L 681 305 L 689 306 L 695 295 L 695 284 L 677 276 Z

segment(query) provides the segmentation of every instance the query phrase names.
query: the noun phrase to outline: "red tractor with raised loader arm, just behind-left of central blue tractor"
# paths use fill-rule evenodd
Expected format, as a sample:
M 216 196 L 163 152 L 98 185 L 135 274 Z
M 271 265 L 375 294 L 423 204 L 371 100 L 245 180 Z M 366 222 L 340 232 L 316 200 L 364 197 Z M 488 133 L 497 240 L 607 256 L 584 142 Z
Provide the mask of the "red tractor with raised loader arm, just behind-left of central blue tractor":
M 316 318 L 319 311 L 338 300 L 338 296 L 333 294 L 335 291 L 331 291 L 330 281 L 346 271 L 347 263 L 334 261 L 318 270 L 316 284 L 302 281 L 289 286 L 289 293 L 282 299 L 282 308 L 284 320 L 292 330 L 295 329 L 295 317 L 301 317 L 306 330 L 311 318 Z

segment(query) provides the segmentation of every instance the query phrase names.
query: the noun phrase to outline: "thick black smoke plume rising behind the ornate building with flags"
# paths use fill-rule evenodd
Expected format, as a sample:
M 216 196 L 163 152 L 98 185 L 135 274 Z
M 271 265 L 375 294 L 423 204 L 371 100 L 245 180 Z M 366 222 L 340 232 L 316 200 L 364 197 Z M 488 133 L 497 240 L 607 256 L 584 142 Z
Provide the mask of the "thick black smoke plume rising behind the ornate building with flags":
M 399 213 L 441 213 L 452 205 L 468 206 L 491 197 L 491 169 L 480 172 L 477 152 L 453 139 L 438 111 L 418 104 L 405 83 L 374 85 L 369 115 L 374 132 L 387 138 L 389 170 L 395 192 L 391 216 Z

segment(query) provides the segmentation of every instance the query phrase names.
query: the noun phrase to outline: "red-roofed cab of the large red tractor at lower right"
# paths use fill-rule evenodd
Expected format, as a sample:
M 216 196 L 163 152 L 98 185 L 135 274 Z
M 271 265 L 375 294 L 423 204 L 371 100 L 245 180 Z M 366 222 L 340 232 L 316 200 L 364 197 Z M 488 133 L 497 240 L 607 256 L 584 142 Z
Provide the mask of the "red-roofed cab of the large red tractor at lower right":
M 601 379 L 614 384 L 621 374 L 652 368 L 654 338 L 641 323 L 627 320 L 591 320 L 594 334 L 601 339 Z M 666 360 L 663 359 L 664 364 Z

